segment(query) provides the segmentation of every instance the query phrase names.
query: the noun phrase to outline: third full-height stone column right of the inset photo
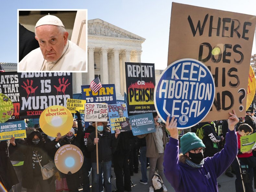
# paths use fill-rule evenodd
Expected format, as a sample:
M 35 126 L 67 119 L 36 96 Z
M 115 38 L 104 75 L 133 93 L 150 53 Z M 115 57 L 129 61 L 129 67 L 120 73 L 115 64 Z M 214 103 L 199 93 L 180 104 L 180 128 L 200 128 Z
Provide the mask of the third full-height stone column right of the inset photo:
M 113 77 L 114 77 L 114 84 L 115 84 L 115 88 L 116 88 L 116 94 L 121 93 L 120 90 L 120 68 L 119 68 L 119 49 L 113 49 L 113 58 L 112 58 L 112 63 L 113 63 L 113 69 L 114 69 L 114 73 Z

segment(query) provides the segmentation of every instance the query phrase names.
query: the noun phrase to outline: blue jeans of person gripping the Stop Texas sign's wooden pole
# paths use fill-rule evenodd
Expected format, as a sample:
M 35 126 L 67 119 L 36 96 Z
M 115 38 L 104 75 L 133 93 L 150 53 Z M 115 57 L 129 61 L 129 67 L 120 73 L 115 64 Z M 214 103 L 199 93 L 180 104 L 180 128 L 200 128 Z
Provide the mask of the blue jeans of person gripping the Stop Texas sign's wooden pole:
M 100 179 L 102 173 L 105 183 L 105 192 L 111 192 L 111 161 L 99 162 L 99 174 L 97 174 L 97 164 L 92 163 L 92 192 L 99 192 L 99 183 L 103 183 Z

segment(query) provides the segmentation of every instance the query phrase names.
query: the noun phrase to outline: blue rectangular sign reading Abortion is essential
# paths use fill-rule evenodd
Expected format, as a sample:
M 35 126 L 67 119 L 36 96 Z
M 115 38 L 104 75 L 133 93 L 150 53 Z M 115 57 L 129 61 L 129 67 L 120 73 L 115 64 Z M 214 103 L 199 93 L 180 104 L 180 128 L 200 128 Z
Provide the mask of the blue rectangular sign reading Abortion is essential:
M 155 122 L 152 113 L 132 115 L 129 117 L 134 136 L 156 132 Z

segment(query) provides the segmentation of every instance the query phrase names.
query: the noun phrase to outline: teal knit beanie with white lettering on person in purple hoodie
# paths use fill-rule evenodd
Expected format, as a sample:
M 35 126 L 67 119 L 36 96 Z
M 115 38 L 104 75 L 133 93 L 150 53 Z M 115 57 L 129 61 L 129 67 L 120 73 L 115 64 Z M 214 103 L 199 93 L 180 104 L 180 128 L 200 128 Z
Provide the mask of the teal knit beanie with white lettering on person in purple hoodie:
M 181 152 L 185 154 L 192 149 L 205 147 L 203 141 L 196 136 L 195 133 L 188 132 L 180 138 Z

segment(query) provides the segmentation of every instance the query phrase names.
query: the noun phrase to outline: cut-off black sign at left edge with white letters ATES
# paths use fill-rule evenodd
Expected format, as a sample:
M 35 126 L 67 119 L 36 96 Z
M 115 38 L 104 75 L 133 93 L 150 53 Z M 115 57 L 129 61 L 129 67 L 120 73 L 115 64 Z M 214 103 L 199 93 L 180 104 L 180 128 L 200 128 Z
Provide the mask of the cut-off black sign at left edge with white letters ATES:
M 0 93 L 9 97 L 13 103 L 13 116 L 9 120 L 19 119 L 19 78 L 17 72 L 0 73 Z M 1 113 L 0 113 L 1 114 Z

